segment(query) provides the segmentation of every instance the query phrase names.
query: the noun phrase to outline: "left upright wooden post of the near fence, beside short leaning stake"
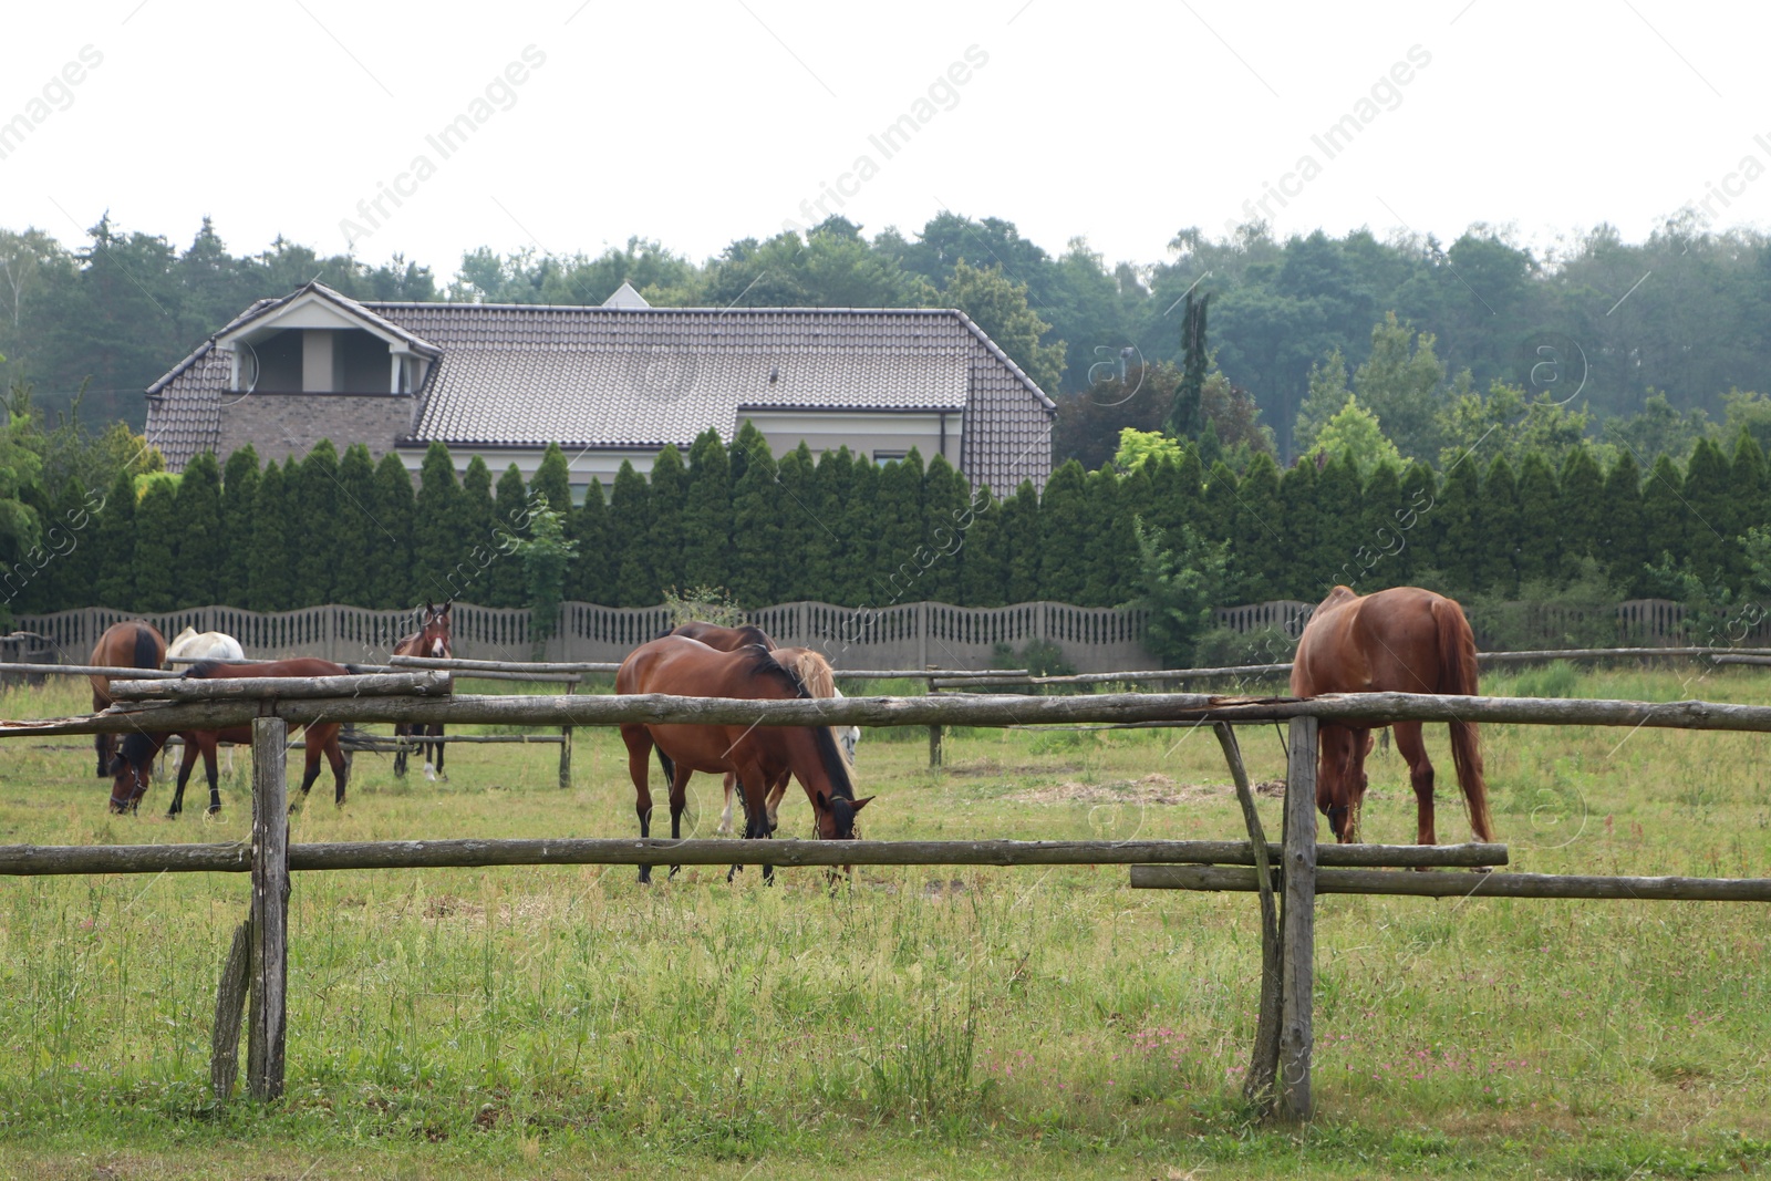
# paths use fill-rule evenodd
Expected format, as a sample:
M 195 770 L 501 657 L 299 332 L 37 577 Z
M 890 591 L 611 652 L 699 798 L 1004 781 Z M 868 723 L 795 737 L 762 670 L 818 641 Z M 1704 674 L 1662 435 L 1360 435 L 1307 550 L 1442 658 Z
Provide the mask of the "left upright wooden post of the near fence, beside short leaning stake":
M 289 724 L 251 721 L 251 1034 L 246 1089 L 255 1100 L 283 1094 L 289 1013 L 289 784 L 283 747 Z

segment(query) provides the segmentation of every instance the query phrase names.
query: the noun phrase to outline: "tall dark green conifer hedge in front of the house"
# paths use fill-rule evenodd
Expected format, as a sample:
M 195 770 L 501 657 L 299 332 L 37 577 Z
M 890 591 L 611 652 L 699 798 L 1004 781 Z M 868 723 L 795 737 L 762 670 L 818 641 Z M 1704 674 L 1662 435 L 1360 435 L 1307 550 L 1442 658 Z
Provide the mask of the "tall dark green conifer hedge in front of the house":
M 524 483 L 515 466 L 494 480 L 478 457 L 457 478 L 432 443 L 416 487 L 397 455 L 377 464 L 363 444 L 340 455 L 321 443 L 283 464 L 243 448 L 225 464 L 200 455 L 182 476 L 120 469 L 99 498 L 78 473 L 53 498 L 34 492 L 46 521 L 81 524 L 66 552 L 4 577 L 12 609 L 28 613 L 521 607 L 533 591 L 515 552 L 547 508 L 576 545 L 561 551 L 560 591 L 622 607 L 694 588 L 746 607 L 1119 606 L 1148 597 L 1153 538 L 1171 561 L 1217 563 L 1210 606 L 1314 602 L 1337 583 L 1546 597 L 1574 577 L 1617 597 L 1688 598 L 1748 586 L 1743 536 L 1771 521 L 1771 471 L 1746 430 L 1732 448 L 1704 437 L 1686 464 L 1661 455 L 1647 471 L 1629 450 L 1601 462 L 1589 446 L 1560 462 L 1498 446 L 1484 462 L 1477 448 L 1443 473 L 1420 460 L 1362 469 L 1351 452 L 1289 469 L 1256 453 L 1241 473 L 1206 460 L 1165 439 L 1094 471 L 1070 460 L 1043 494 L 1024 483 L 999 499 L 939 455 L 875 464 L 800 444 L 776 459 L 746 423 L 731 444 L 707 432 L 687 457 L 664 448 L 650 476 L 623 464 L 607 494 L 593 482 L 572 505 L 558 446 Z

